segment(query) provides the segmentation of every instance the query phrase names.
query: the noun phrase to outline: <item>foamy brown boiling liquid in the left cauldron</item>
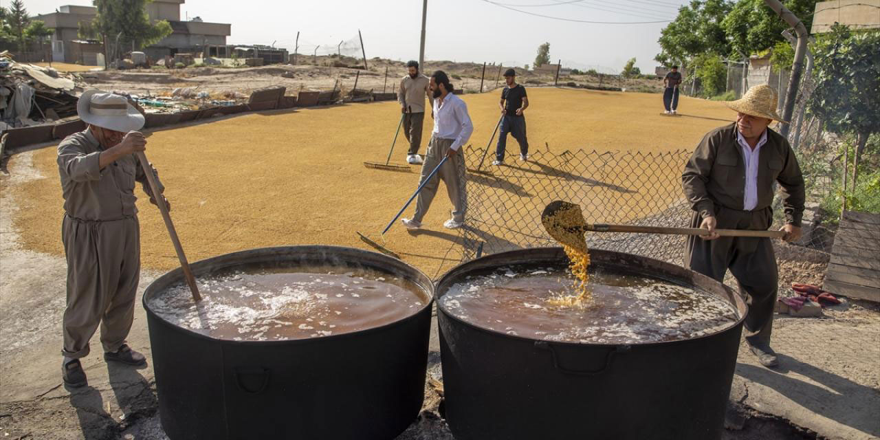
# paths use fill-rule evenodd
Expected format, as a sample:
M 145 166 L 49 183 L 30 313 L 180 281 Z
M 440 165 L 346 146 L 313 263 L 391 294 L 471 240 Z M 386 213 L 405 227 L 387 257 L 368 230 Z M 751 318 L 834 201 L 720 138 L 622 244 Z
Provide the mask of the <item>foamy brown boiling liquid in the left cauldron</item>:
M 290 272 L 297 270 L 297 272 Z M 263 269 L 196 278 L 148 301 L 176 326 L 232 341 L 283 341 L 356 332 L 413 315 L 428 303 L 413 282 L 374 270 Z

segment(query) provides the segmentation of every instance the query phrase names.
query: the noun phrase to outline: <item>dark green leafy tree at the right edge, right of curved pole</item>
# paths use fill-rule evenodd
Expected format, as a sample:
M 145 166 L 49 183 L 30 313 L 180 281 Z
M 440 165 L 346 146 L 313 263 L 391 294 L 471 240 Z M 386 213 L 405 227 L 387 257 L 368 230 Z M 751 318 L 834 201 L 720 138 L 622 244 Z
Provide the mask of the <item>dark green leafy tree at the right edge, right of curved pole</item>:
M 853 32 L 835 24 L 819 37 L 815 54 L 810 112 L 829 131 L 855 135 L 858 165 L 869 136 L 880 133 L 880 32 Z

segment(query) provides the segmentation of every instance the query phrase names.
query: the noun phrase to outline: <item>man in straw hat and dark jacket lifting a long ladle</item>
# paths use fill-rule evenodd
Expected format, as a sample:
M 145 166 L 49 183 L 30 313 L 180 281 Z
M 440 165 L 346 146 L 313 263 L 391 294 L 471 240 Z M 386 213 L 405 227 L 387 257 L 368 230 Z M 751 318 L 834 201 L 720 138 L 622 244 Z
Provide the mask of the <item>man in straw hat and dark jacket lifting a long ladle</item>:
M 710 234 L 687 240 L 685 260 L 701 274 L 722 281 L 730 272 L 746 296 L 745 341 L 766 367 L 778 365 L 770 348 L 778 270 L 769 238 L 719 238 L 715 228 L 767 230 L 773 224 L 774 183 L 781 187 L 785 241 L 801 236 L 803 176 L 788 141 L 767 126 L 776 114 L 776 91 L 749 89 L 727 103 L 737 122 L 708 132 L 685 166 L 682 184 L 694 213 L 692 227 Z

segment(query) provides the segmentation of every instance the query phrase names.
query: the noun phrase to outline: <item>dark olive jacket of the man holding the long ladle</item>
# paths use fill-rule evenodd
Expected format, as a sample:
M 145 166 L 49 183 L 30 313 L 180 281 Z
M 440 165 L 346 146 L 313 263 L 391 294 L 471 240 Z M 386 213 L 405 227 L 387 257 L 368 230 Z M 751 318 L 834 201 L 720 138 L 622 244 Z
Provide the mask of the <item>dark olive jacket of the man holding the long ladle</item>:
M 759 151 L 758 204 L 752 210 L 773 204 L 774 182 L 781 187 L 786 223 L 801 225 L 805 199 L 803 175 L 788 140 L 766 129 L 767 142 Z M 743 210 L 745 163 L 737 143 L 737 124 L 708 132 L 681 175 L 682 186 L 693 210 L 700 216 L 715 216 L 715 205 Z

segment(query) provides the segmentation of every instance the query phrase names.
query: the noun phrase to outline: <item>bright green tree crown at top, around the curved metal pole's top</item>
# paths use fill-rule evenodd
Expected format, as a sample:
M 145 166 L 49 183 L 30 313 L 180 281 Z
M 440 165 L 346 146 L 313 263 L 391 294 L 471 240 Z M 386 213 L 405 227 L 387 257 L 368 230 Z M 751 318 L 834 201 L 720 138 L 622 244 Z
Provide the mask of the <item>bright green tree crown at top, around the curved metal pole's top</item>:
M 783 0 L 782 4 L 810 29 L 818 0 Z M 785 41 L 782 31 L 788 24 L 764 3 L 764 0 L 739 0 L 722 20 L 731 47 L 744 55 L 773 48 Z

